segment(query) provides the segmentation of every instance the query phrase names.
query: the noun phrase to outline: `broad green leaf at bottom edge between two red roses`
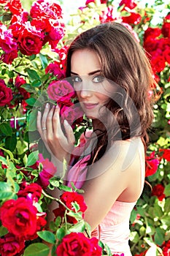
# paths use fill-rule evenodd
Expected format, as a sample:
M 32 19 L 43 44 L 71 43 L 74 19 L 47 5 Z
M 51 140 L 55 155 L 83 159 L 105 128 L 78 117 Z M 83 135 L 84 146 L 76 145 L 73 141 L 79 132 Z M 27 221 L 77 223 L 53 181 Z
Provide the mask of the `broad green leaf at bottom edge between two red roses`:
M 48 256 L 50 248 L 42 243 L 30 244 L 26 247 L 23 256 Z

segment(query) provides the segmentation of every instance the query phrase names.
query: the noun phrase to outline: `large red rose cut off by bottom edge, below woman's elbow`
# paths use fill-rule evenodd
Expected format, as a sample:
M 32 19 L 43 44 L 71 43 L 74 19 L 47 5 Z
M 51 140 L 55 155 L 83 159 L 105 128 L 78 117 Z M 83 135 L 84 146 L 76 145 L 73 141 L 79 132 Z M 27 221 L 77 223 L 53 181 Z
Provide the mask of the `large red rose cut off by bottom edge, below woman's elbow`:
M 56 254 L 64 256 L 99 256 L 101 251 L 97 239 L 87 238 L 83 233 L 70 233 L 63 237 L 61 244 L 56 249 Z

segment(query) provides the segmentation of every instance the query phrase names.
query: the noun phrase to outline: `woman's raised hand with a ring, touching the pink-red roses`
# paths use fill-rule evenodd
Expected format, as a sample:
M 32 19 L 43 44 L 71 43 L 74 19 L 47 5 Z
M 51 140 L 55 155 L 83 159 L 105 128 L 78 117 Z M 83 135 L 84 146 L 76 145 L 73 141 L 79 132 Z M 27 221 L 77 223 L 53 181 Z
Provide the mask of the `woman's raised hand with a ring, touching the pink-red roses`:
M 72 127 L 65 120 L 63 127 L 66 135 L 63 134 L 60 121 L 60 108 L 55 105 L 50 109 L 50 105 L 45 105 L 45 111 L 42 115 L 38 111 L 37 129 L 51 157 L 63 162 L 63 159 L 69 161 L 74 148 L 75 138 Z

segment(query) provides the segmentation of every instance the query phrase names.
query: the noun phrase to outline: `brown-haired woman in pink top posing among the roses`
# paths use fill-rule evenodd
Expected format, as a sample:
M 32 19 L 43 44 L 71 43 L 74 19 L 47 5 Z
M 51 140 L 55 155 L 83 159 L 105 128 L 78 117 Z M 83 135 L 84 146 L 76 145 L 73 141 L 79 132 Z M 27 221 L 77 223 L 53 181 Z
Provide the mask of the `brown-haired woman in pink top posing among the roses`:
M 77 152 L 72 127 L 65 121 L 63 135 L 59 108 L 48 105 L 37 119 L 39 133 L 55 163 L 69 162 L 67 184 L 74 181 L 84 189 L 92 236 L 112 253 L 129 256 L 129 218 L 144 186 L 144 151 L 153 118 L 148 91 L 155 82 L 149 61 L 123 24 L 104 23 L 74 39 L 66 76 L 92 120 L 88 143 L 80 156 L 72 157 Z

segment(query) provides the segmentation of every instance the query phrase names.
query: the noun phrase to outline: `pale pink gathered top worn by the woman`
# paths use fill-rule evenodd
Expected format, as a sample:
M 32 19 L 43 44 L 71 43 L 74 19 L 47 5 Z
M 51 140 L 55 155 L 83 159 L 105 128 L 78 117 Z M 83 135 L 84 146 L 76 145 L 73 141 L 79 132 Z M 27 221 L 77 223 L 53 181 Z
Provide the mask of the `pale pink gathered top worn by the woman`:
M 139 139 L 140 140 L 140 139 Z M 142 141 L 140 140 L 142 143 Z M 141 193 L 144 185 L 144 157 L 142 157 L 141 151 L 139 151 L 139 157 L 141 162 Z M 87 173 L 86 160 L 90 158 L 90 155 L 80 159 L 69 170 L 67 185 L 70 186 L 70 181 L 74 181 L 75 186 L 80 189 L 85 181 Z M 115 201 L 112 208 L 102 222 L 91 233 L 91 236 L 95 236 L 101 240 L 104 244 L 107 244 L 111 249 L 112 254 L 131 256 L 130 247 L 128 245 L 130 229 L 129 219 L 131 217 L 131 211 L 133 210 L 135 202 L 120 202 Z

